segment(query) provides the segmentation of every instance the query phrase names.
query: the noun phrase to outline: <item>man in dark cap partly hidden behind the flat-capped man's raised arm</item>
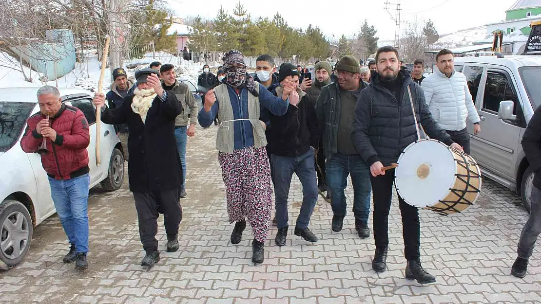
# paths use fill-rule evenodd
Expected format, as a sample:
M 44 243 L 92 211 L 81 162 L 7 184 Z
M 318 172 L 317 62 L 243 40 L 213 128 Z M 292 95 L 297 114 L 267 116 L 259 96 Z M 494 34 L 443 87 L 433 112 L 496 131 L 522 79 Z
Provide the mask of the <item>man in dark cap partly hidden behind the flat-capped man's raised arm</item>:
M 128 91 L 133 83 L 131 83 L 127 77 L 126 70 L 122 69 L 122 67 L 117 67 L 113 70 L 113 83 L 111 83 L 111 90 L 105 95 L 105 100 L 107 100 L 109 109 L 116 109 L 117 107 L 120 107 L 124 102 L 124 97 L 128 95 Z M 128 124 L 115 125 L 115 131 L 122 145 L 124 159 L 128 160 Z

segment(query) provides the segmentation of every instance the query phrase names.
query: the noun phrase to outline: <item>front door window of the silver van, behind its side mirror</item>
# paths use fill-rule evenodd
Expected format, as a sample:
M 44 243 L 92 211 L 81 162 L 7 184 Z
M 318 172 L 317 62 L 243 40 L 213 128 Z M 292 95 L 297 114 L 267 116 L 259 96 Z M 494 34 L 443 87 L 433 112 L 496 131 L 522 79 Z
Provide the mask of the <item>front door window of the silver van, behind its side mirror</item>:
M 510 123 L 520 125 L 523 115 L 514 85 L 506 73 L 489 71 L 486 75 L 483 111 L 498 114 L 500 102 L 504 100 L 511 100 L 513 102 L 513 114 L 517 115 L 517 119 L 510 121 Z

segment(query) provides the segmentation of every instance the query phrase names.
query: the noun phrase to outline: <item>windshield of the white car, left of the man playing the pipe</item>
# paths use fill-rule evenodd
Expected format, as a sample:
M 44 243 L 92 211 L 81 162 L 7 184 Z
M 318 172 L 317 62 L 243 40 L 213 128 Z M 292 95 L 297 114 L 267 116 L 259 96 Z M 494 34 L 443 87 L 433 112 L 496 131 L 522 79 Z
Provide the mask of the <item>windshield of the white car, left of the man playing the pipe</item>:
M 21 136 L 35 103 L 0 102 L 0 152 L 8 151 Z

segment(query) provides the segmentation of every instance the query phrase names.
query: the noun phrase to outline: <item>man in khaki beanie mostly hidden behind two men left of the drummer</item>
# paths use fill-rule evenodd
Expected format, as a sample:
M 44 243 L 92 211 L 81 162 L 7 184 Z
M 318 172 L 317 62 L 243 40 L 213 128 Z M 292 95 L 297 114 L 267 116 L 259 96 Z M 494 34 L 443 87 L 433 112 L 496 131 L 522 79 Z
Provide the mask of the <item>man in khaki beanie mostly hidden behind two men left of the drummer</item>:
M 331 84 L 331 73 L 332 73 L 332 66 L 326 61 L 320 61 L 315 64 L 314 71 L 315 71 L 315 81 L 314 84 L 308 89 L 305 90 L 306 92 L 306 100 L 309 104 L 311 104 L 315 108 L 315 102 L 319 98 L 319 94 L 321 94 L 321 88 Z M 318 173 L 318 187 L 320 192 L 327 192 L 327 200 L 331 200 L 331 191 L 328 191 L 327 187 L 327 180 L 326 180 L 326 165 L 325 165 L 325 153 L 322 146 L 322 140 L 319 141 L 319 147 L 318 147 L 318 154 L 316 159 L 316 165 L 318 166 L 318 170 L 316 172 Z

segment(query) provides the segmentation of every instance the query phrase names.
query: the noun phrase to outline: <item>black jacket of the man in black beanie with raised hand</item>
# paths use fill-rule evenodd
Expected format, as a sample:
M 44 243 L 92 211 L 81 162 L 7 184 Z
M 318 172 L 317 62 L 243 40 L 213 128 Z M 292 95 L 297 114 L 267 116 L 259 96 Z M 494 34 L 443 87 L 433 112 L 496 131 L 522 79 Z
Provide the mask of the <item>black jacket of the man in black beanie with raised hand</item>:
M 267 145 L 272 154 L 298 157 L 310 146 L 317 148 L 319 138 L 318 117 L 305 95 L 297 106 L 289 104 L 285 115 L 272 115 Z

